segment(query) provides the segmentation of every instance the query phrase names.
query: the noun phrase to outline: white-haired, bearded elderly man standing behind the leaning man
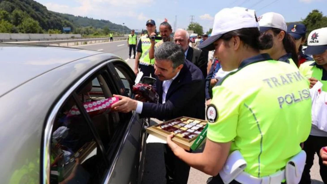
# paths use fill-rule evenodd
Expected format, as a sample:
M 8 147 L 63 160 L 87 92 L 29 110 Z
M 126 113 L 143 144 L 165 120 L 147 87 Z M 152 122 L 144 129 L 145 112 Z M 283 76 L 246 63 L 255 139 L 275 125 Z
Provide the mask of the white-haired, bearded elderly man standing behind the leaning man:
M 174 42 L 184 50 L 185 57 L 187 60 L 191 61 L 195 66 L 197 66 L 205 78 L 207 76 L 207 62 L 208 62 L 208 55 L 198 50 L 193 49 L 189 46 L 190 43 L 190 35 L 184 29 L 178 29 L 174 35 Z

